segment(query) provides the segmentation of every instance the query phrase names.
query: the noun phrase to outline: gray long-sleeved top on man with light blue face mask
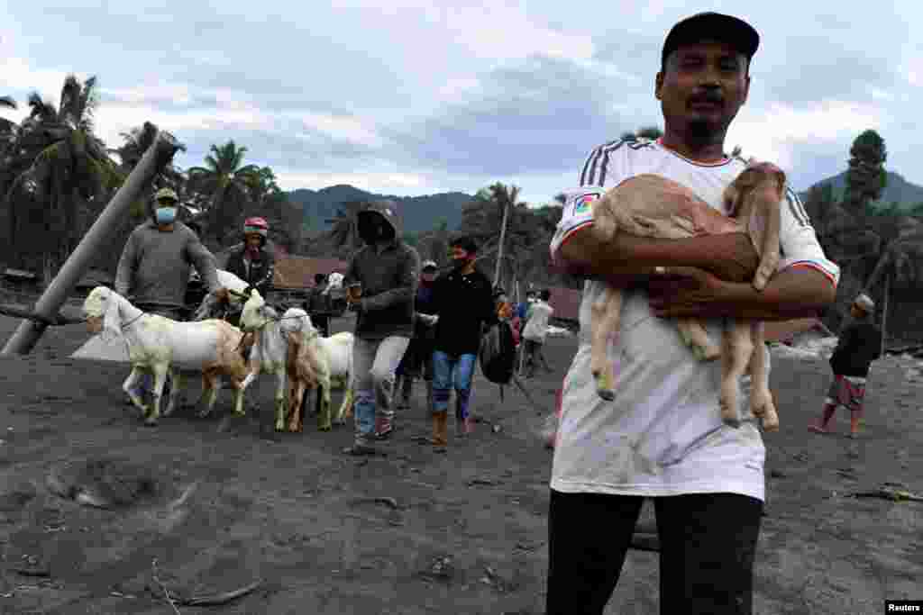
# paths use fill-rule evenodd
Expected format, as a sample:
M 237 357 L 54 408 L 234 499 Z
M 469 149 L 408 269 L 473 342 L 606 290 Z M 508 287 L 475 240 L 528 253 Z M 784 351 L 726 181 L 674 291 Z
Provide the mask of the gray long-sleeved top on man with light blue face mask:
M 218 290 L 215 259 L 182 222 L 173 231 L 160 231 L 153 221 L 139 224 L 125 244 L 115 274 L 115 292 L 134 303 L 181 307 L 189 283 L 189 267 L 210 291 Z

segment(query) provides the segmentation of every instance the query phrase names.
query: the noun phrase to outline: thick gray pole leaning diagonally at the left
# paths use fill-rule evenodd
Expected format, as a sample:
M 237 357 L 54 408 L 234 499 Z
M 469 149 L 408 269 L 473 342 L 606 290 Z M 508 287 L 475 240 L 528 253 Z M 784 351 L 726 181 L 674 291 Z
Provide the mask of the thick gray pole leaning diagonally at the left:
M 42 297 L 35 303 L 33 313 L 53 320 L 67 297 L 74 291 L 80 278 L 86 273 L 92 258 L 107 244 L 118 224 L 125 219 L 131 204 L 138 200 L 142 191 L 158 172 L 173 160 L 179 144 L 167 133 L 158 133 L 153 144 L 144 153 L 138 166 L 128 174 L 125 183 L 115 193 L 100 217 L 93 222 L 90 231 L 83 236 L 58 274 L 54 277 Z M 45 332 L 46 323 L 24 319 L 6 342 L 0 355 L 29 354 Z

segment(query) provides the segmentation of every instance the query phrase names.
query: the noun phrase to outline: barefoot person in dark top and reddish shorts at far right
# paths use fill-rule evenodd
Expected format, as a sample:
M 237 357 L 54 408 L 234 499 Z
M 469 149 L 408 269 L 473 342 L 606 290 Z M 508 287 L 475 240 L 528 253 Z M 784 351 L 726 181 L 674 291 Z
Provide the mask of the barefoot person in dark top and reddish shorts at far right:
M 875 303 L 860 294 L 849 313 L 854 321 L 845 327 L 830 358 L 833 382 L 824 400 L 821 420 L 809 426 L 810 431 L 827 432 L 827 423 L 839 406 L 849 409 L 849 437 L 855 438 L 862 420 L 866 378 L 871 362 L 881 357 L 881 329 L 872 322 Z

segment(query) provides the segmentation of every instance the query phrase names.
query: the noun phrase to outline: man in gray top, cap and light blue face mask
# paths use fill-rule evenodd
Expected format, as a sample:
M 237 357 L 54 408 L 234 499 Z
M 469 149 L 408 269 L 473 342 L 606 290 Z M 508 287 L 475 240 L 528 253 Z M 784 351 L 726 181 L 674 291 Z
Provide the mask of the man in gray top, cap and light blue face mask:
M 189 266 L 196 267 L 210 292 L 221 287 L 214 257 L 198 235 L 176 219 L 178 200 L 171 188 L 157 191 L 151 219 L 128 236 L 115 274 L 115 292 L 145 313 L 184 320 Z M 150 391 L 152 385 L 146 374 L 142 389 Z

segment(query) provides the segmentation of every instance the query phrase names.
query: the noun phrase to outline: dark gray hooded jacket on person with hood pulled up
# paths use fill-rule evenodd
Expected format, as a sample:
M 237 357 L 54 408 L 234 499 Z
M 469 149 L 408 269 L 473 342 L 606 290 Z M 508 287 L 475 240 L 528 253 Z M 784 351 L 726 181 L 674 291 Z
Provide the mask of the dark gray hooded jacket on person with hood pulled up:
M 343 286 L 362 285 L 361 309 L 355 336 L 383 339 L 414 336 L 414 298 L 420 279 L 420 256 L 401 239 L 401 220 L 393 201 L 369 203 L 365 210 L 377 211 L 394 229 L 394 241 L 366 245 L 350 261 Z

